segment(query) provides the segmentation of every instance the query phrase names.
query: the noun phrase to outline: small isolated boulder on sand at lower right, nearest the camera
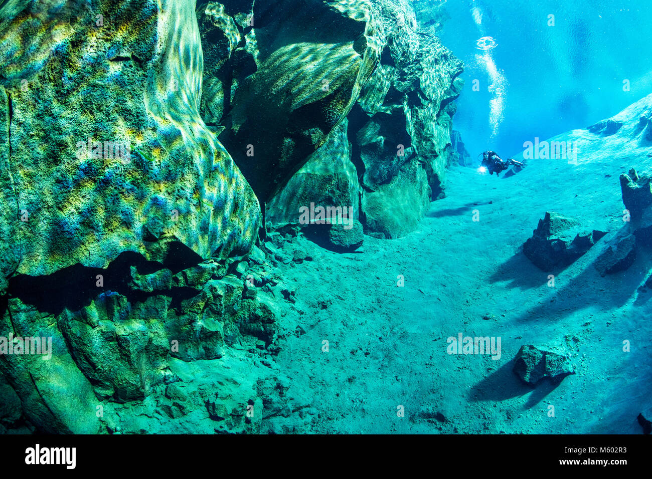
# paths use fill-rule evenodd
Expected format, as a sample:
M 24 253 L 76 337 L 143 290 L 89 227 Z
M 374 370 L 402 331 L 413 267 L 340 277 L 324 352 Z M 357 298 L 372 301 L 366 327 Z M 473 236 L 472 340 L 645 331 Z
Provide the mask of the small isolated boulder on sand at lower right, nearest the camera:
M 566 356 L 526 344 L 514 358 L 514 373 L 524 383 L 536 385 L 544 377 L 559 382 L 575 371 Z

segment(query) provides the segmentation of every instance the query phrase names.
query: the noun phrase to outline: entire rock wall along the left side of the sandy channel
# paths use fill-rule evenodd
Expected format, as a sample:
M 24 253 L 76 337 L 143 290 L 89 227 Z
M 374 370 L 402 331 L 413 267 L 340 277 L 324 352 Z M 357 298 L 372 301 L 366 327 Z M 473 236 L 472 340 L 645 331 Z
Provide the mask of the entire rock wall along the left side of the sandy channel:
M 269 263 L 304 258 L 254 246 L 261 205 L 350 208 L 340 250 L 408 233 L 461 63 L 404 0 L 0 5 L 0 431 L 306 427 Z

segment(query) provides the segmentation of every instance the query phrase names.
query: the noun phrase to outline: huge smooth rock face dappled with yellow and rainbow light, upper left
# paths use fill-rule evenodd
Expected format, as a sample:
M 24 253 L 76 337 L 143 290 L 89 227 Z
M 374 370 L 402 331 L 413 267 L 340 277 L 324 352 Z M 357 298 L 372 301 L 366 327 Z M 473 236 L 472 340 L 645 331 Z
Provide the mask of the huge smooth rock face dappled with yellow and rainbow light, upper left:
M 232 261 L 256 240 L 258 199 L 198 110 L 194 2 L 120 3 L 3 3 L 5 272 L 165 261 L 174 243 Z

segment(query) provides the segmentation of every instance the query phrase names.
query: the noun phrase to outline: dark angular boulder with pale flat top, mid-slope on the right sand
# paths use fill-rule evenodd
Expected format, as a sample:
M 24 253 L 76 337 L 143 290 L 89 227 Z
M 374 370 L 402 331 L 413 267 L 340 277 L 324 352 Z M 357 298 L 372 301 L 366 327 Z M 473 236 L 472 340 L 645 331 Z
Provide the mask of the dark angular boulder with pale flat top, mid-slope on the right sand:
M 575 218 L 548 211 L 525 242 L 523 252 L 539 269 L 550 271 L 570 265 L 604 235 L 604 231 L 582 228 Z

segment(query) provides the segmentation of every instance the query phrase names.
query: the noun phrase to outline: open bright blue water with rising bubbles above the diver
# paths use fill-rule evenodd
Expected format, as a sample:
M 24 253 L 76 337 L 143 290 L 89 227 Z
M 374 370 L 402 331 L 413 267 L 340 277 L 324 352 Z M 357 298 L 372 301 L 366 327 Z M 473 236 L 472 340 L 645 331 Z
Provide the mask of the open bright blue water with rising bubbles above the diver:
M 440 35 L 466 64 L 454 125 L 471 156 L 486 149 L 512 156 L 524 141 L 585 128 L 652 91 L 649 1 L 417 4 L 437 11 L 443 4 L 449 14 Z M 484 36 L 494 38 L 496 48 L 477 50 Z M 479 91 L 473 91 L 474 80 Z M 492 101 L 499 103 L 494 112 Z

